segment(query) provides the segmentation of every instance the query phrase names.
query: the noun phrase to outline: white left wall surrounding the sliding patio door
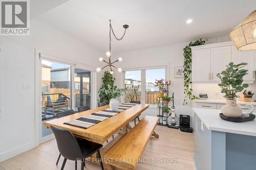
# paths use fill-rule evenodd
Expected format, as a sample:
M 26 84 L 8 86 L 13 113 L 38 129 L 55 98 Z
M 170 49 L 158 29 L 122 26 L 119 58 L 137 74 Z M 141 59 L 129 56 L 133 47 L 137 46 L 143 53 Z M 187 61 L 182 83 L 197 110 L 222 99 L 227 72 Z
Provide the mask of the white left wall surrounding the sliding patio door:
M 39 142 L 35 127 L 40 115 L 35 113 L 35 62 L 39 58 L 34 48 L 92 66 L 102 54 L 39 20 L 31 20 L 30 30 L 30 36 L 0 36 L 0 162 Z M 31 89 L 24 90 L 23 83 Z

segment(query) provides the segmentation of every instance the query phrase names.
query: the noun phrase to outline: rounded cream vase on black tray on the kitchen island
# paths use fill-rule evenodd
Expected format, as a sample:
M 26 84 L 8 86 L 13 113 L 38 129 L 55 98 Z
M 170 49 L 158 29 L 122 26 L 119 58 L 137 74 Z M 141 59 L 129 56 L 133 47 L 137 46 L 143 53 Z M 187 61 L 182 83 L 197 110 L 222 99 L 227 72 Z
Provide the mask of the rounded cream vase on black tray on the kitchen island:
M 221 107 L 221 112 L 225 116 L 240 117 L 242 115 L 242 109 L 237 106 L 237 100 L 226 100 L 226 105 Z

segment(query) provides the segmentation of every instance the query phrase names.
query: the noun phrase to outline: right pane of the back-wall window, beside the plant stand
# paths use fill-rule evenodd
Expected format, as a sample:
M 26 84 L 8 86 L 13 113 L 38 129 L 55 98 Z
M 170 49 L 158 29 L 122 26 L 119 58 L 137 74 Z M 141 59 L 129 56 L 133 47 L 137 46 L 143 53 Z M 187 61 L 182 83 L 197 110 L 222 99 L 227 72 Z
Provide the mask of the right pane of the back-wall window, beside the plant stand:
M 145 77 L 145 103 L 154 104 L 157 102 L 157 93 L 159 91 L 155 86 L 155 81 L 165 79 L 165 68 L 147 69 Z

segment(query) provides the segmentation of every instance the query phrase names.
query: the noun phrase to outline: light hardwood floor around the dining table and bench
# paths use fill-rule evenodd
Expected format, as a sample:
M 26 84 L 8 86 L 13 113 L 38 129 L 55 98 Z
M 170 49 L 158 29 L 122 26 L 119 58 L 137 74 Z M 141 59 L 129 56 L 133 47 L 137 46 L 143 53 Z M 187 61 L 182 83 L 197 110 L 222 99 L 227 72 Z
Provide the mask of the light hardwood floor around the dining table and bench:
M 180 130 L 170 129 L 167 127 L 157 126 L 155 131 L 159 138 L 151 137 L 147 147 L 142 155 L 146 162 L 138 163 L 136 169 L 195 169 L 193 162 L 194 154 L 194 136 L 193 133 L 184 133 Z M 39 145 L 39 147 L 17 155 L 0 163 L 0 170 L 50 170 L 60 169 L 63 157 L 60 158 L 59 164 L 55 165 L 58 157 L 58 148 L 55 139 L 49 140 Z M 159 159 L 179 159 L 179 163 L 154 163 L 152 158 Z M 159 160 L 158 159 L 158 160 Z M 74 161 L 67 161 L 65 170 L 75 169 Z M 80 164 L 78 164 L 80 169 Z M 86 163 L 86 168 L 90 170 L 100 169 L 100 166 Z

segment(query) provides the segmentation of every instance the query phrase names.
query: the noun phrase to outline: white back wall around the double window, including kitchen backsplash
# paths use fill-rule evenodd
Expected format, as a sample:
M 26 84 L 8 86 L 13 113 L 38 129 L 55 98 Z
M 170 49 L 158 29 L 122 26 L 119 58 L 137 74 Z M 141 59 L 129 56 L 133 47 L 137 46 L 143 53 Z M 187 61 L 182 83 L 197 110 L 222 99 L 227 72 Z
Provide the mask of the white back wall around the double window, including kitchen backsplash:
M 228 36 L 217 37 L 208 39 L 206 43 L 217 43 L 230 41 Z M 191 102 L 188 102 L 188 106 L 183 106 L 184 99 L 184 83 L 183 79 L 174 78 L 174 68 L 183 66 L 183 48 L 189 42 L 170 44 L 165 46 L 157 46 L 151 48 L 144 48 L 142 50 L 118 53 L 113 56 L 116 58 L 122 57 L 122 62 L 118 63 L 118 66 L 122 68 L 140 68 L 148 66 L 160 66 L 167 65 L 167 80 L 172 81 L 171 92 L 175 94 L 175 106 L 177 114 L 191 114 L 192 107 Z M 115 72 L 116 85 L 122 86 L 122 74 Z M 255 89 L 255 84 L 250 85 L 250 88 Z M 222 94 L 217 84 L 193 84 L 195 94 L 198 92 L 207 92 L 212 99 L 221 99 Z M 254 90 L 255 91 L 255 90 Z M 147 109 L 143 114 L 157 115 L 156 109 Z

